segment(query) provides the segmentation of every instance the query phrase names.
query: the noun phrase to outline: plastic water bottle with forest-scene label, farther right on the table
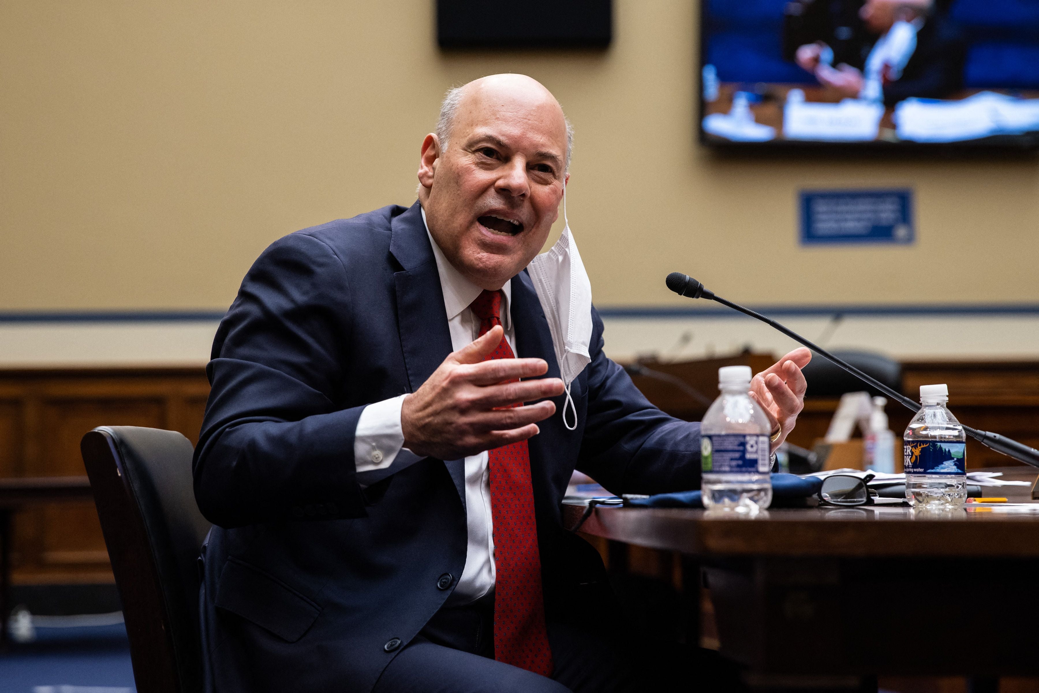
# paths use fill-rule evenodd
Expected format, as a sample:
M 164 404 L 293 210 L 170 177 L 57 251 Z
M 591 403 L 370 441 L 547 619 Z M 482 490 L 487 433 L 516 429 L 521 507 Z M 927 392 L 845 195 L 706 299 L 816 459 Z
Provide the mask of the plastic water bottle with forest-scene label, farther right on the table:
M 921 385 L 924 406 L 905 432 L 906 500 L 916 507 L 961 507 L 967 498 L 966 434 L 945 404 L 947 385 Z

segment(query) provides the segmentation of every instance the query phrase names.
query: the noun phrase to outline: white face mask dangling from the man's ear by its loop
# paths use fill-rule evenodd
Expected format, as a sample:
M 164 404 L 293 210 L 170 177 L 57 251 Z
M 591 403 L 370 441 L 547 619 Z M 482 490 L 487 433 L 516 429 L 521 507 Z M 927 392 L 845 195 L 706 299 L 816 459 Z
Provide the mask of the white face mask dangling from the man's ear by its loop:
M 566 388 L 563 402 L 563 425 L 568 430 L 578 427 L 578 410 L 570 397 L 570 383 L 591 362 L 591 283 L 581 262 L 577 243 L 566 219 L 566 187 L 563 187 L 563 235 L 548 252 L 542 252 L 527 266 L 541 309 L 549 321 L 552 345 L 559 362 L 559 374 Z M 566 417 L 567 407 L 574 412 L 574 425 Z

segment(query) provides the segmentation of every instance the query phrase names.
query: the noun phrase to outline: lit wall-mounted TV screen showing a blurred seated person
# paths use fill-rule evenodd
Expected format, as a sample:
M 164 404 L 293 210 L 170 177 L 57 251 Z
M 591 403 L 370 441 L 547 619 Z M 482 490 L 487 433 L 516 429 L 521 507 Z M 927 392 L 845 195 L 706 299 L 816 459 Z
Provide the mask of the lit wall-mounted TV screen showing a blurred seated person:
M 1039 0 L 702 0 L 712 145 L 1039 146 Z

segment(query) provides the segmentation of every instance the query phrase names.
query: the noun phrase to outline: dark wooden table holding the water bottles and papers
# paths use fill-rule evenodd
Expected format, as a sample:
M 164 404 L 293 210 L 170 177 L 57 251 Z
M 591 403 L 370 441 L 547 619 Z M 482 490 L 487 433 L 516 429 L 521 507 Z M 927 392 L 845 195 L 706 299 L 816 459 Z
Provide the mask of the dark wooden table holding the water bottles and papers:
M 564 508 L 569 527 L 582 511 Z M 1039 512 L 597 507 L 581 531 L 696 561 L 722 654 L 753 672 L 966 675 L 974 690 L 1039 674 Z

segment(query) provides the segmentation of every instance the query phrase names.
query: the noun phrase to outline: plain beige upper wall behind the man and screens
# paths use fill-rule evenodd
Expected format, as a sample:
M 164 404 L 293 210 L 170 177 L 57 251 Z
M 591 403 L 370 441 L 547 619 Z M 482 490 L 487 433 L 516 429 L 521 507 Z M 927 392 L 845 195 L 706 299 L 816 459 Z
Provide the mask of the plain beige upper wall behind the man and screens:
M 693 0 L 616 0 L 605 53 L 443 54 L 432 0 L 0 3 L 0 312 L 222 309 L 275 238 L 414 201 L 439 97 L 524 72 L 577 128 L 603 305 L 682 269 L 754 303 L 1039 301 L 1035 161 L 723 159 Z M 908 185 L 909 248 L 801 249 L 798 189 Z

